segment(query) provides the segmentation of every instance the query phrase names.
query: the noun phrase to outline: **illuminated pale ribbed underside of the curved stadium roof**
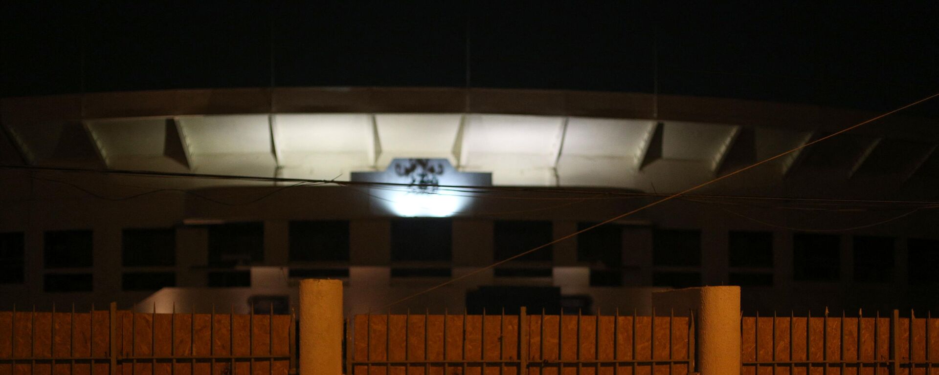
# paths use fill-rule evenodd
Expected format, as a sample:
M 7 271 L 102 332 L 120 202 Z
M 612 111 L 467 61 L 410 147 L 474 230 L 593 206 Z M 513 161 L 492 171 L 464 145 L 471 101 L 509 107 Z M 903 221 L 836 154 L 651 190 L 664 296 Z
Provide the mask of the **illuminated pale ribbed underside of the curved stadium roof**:
M 477 113 L 231 114 L 10 123 L 8 135 L 25 163 L 38 166 L 347 180 L 353 172 L 384 171 L 394 158 L 445 158 L 460 172 L 492 173 L 495 186 L 660 192 L 691 187 L 820 136 L 726 124 Z M 853 135 L 841 137 L 841 142 L 847 143 L 833 148 L 832 155 L 817 157 L 827 160 L 821 167 L 843 180 L 855 173 L 908 177 L 935 148 Z M 903 144 L 893 144 L 897 142 Z M 901 168 L 877 171 L 878 147 L 909 155 Z M 811 153 L 802 154 L 763 166 L 747 188 L 777 184 L 811 158 Z M 192 188 L 221 182 L 194 184 Z

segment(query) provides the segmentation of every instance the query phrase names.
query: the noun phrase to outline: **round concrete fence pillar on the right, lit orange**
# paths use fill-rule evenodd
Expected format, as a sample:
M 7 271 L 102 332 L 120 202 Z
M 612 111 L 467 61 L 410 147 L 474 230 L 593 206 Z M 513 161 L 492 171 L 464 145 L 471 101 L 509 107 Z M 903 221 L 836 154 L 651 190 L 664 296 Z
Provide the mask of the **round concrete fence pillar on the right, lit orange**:
M 696 314 L 697 366 L 701 375 L 740 374 L 740 287 L 703 287 L 657 292 L 659 311 Z

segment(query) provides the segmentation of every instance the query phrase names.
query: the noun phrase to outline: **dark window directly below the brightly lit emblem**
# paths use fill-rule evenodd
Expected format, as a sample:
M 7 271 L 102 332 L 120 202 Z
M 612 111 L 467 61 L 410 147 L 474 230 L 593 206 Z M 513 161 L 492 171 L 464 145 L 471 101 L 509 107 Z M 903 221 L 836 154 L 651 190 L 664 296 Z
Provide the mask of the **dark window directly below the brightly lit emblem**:
M 450 261 L 453 226 L 442 218 L 392 221 L 392 261 Z

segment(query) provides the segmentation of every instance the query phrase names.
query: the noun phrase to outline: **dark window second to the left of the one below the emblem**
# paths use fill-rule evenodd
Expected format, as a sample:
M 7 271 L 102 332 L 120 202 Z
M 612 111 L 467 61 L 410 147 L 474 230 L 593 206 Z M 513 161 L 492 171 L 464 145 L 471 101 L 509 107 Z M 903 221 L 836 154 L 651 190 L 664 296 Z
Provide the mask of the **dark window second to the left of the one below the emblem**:
M 264 262 L 264 223 L 231 223 L 208 227 L 209 264 L 254 262 Z

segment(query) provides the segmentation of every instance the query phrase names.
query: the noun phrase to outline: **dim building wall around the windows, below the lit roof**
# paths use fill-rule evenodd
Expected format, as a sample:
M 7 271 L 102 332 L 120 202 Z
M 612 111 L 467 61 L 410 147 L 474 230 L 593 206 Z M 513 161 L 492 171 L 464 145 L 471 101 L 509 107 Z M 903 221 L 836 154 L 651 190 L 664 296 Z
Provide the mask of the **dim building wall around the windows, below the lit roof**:
M 25 239 L 23 284 L 0 285 L 0 308 L 31 306 L 48 308 L 52 303 L 87 308 L 90 303 L 104 307 L 108 302 L 121 305 L 154 299 L 153 292 L 124 292 L 122 273 L 137 270 L 121 264 L 122 230 L 129 228 L 174 228 L 176 235 L 177 289 L 172 297 L 161 299 L 177 302 L 180 308 L 189 301 L 202 305 L 215 302 L 222 306 L 244 307 L 244 298 L 251 294 L 296 293 L 294 278 L 284 278 L 291 267 L 300 264 L 288 261 L 289 223 L 291 220 L 339 219 L 349 223 L 349 261 L 339 263 L 306 263 L 302 267 L 339 266 L 348 268 L 346 307 L 350 312 L 382 308 L 410 293 L 436 285 L 448 278 L 393 278 L 390 261 L 391 222 L 398 219 L 389 214 L 380 200 L 347 187 L 286 188 L 254 202 L 275 188 L 214 188 L 192 192 L 161 191 L 137 198 L 128 198 L 147 191 L 146 181 L 116 180 L 114 177 L 5 174 L 9 185 L 8 203 L 0 212 L 0 233 L 23 232 Z M 46 178 L 49 177 L 49 178 Z M 50 180 L 58 181 L 53 182 Z M 76 189 L 66 181 L 84 188 Z M 14 188 L 14 186 L 16 188 Z M 23 186 L 29 186 L 23 188 Z M 107 198 L 107 199 L 101 199 Z M 222 203 L 209 202 L 206 198 Z M 593 197 L 597 198 L 597 197 Z M 539 192 L 499 192 L 476 198 L 464 212 L 452 218 L 453 257 L 443 267 L 452 267 L 453 277 L 472 272 L 495 261 L 493 256 L 493 223 L 495 220 L 549 220 L 553 236 L 577 231 L 578 222 L 596 222 L 627 212 L 649 198 L 587 200 L 583 195 Z M 562 200 L 559 200 L 562 199 Z M 562 205 L 559 205 L 562 203 Z M 569 204 L 568 204 L 569 203 Z M 566 205 L 563 205 L 566 204 Z M 734 214 L 761 218 L 758 223 Z M 772 286 L 745 287 L 743 305 L 746 310 L 777 309 L 804 311 L 824 308 L 936 308 L 936 299 L 929 286 L 910 286 L 907 279 L 907 243 L 909 238 L 939 239 L 934 231 L 937 216 L 929 211 L 917 212 L 863 230 L 836 232 L 839 235 L 839 278 L 829 282 L 798 281 L 793 277 L 793 233 L 799 229 L 838 229 L 870 224 L 896 217 L 902 212 L 872 212 L 856 215 L 843 212 L 809 212 L 756 206 L 671 201 L 619 223 L 623 231 L 623 287 L 590 285 L 590 269 L 595 263 L 577 261 L 577 238 L 555 245 L 551 278 L 497 278 L 486 270 L 452 286 L 424 294 L 394 308 L 423 310 L 462 310 L 465 293 L 480 285 L 542 285 L 560 286 L 567 295 L 589 294 L 593 308 L 632 310 L 649 308 L 648 295 L 654 288 L 656 272 L 673 267 L 654 264 L 656 231 L 700 231 L 701 283 L 726 285 L 731 280 L 729 265 L 729 233 L 731 231 L 762 231 L 772 233 Z M 202 221 L 193 221 L 202 220 Z M 209 220 L 209 221 L 207 221 Z M 207 288 L 208 232 L 210 225 L 188 225 L 218 221 L 260 221 L 264 225 L 264 261 L 253 263 L 251 290 Z M 771 223 L 776 227 L 769 227 Z M 93 260 L 88 270 L 93 275 L 91 293 L 44 293 L 44 276 L 55 272 L 44 265 L 44 233 L 57 230 L 85 229 L 93 232 Z M 853 280 L 852 243 L 855 234 L 884 235 L 894 241 L 895 277 L 886 283 L 861 283 Z M 679 267 L 681 268 L 681 267 Z M 687 268 L 687 267 L 686 267 Z M 144 269 L 144 270 L 148 270 Z M 280 278 L 278 278 L 280 274 Z M 933 284 L 934 285 L 934 284 Z M 189 292 L 186 292 L 189 291 Z M 289 291 L 289 292 L 287 292 Z M 190 293 L 186 296 L 186 293 Z M 169 299 L 167 299 L 169 298 Z M 172 301 L 171 301 L 172 300 Z M 165 307 L 161 307 L 164 309 Z

